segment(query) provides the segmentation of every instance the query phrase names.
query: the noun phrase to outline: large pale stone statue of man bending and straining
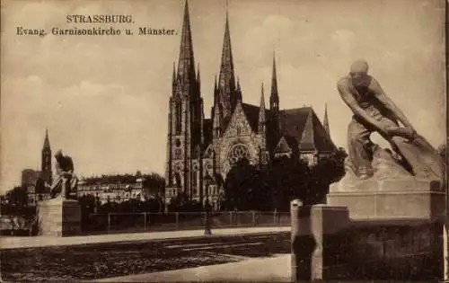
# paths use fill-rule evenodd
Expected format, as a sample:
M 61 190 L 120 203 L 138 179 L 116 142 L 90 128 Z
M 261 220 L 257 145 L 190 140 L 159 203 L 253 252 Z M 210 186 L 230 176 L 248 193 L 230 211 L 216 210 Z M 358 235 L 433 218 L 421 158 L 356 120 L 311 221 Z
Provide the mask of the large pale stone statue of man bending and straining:
M 438 169 L 435 150 L 417 134 L 409 119 L 383 92 L 381 84 L 368 75 L 368 68 L 365 60 L 357 60 L 337 85 L 341 98 L 354 113 L 348 126 L 348 162 L 352 170 L 362 180 L 373 176 L 370 136 L 377 132 L 392 145 L 413 175 L 426 179 L 429 174 L 440 177 L 442 171 Z

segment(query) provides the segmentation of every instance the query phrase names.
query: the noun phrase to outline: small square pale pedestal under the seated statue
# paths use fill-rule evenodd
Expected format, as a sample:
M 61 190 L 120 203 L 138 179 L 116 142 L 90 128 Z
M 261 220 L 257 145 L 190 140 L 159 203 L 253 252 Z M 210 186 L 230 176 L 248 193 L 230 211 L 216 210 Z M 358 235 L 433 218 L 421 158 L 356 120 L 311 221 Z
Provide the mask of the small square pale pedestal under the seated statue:
M 81 233 L 81 207 L 75 199 L 50 199 L 39 205 L 40 235 L 67 236 Z

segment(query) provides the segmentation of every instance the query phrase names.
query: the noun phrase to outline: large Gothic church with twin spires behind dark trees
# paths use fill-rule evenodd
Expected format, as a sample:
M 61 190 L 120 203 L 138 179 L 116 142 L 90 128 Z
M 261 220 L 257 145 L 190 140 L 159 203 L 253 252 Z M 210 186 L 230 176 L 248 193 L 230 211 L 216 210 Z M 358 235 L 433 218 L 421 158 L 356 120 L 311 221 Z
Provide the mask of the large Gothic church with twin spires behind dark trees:
M 216 207 L 223 183 L 233 164 L 246 158 L 251 164 L 269 164 L 287 155 L 313 165 L 337 148 L 330 139 L 327 109 L 323 124 L 312 107 L 279 109 L 276 59 L 273 57 L 270 91 L 260 87 L 260 104 L 243 102 L 235 79 L 230 22 L 225 35 L 214 104 L 205 118 L 199 66 L 196 66 L 186 1 L 178 66 L 173 64 L 166 145 L 165 204 L 182 197 Z M 265 96 L 269 96 L 266 107 Z

